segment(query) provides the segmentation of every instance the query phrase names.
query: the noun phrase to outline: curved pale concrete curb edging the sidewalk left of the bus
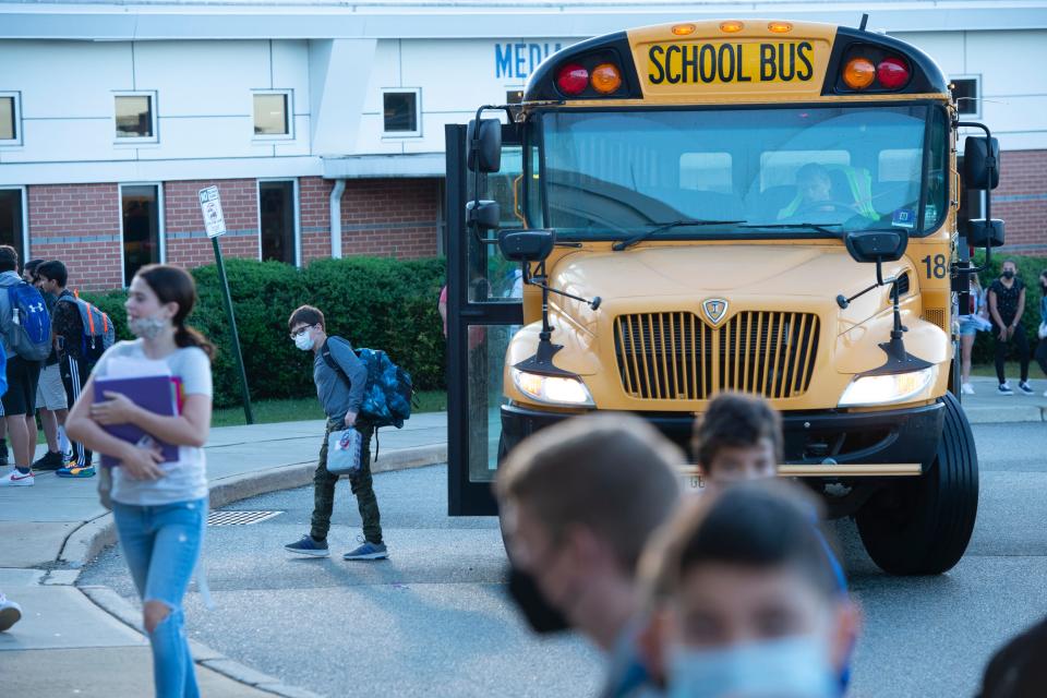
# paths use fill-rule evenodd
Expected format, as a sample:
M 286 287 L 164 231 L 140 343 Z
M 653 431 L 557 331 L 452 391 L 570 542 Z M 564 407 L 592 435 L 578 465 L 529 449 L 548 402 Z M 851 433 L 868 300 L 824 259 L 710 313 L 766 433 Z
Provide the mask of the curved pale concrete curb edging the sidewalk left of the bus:
M 444 462 L 446 459 L 446 444 L 402 448 L 386 454 L 384 458 L 378 458 L 378 460 L 373 464 L 371 470 L 373 473 L 393 472 L 396 470 L 407 470 L 409 468 L 433 466 Z M 213 509 L 217 509 L 233 502 L 246 500 L 260 494 L 301 488 L 313 481 L 313 472 L 315 472 L 315 461 L 309 461 L 220 478 L 210 484 L 208 493 L 209 506 Z M 85 564 L 97 557 L 105 547 L 116 542 L 117 533 L 116 526 L 112 522 L 112 515 L 104 514 L 81 525 L 69 534 L 62 544 L 61 552 L 58 554 L 57 562 L 64 563 L 67 567 L 79 570 Z M 76 576 L 79 576 L 79 573 Z M 86 595 L 92 603 L 109 615 L 124 625 L 130 626 L 137 633 L 145 635 L 140 622 L 140 611 L 123 597 L 109 587 L 75 587 L 74 582 L 75 578 L 70 579 L 67 583 L 73 585 L 74 588 Z M 275 696 L 281 696 L 282 698 L 322 698 L 318 694 L 305 690 L 304 688 L 287 686 L 279 678 L 263 674 L 260 671 L 233 661 L 196 640 L 190 639 L 189 643 L 193 659 L 197 664 L 222 674 L 232 681 Z

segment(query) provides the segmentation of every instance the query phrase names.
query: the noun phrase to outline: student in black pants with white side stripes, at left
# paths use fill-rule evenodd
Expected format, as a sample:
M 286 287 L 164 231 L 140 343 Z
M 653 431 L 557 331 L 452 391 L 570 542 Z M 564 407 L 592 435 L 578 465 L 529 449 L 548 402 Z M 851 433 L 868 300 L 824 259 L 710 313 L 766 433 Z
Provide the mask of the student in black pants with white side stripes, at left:
M 80 398 L 84 382 L 94 368 L 83 352 L 84 321 L 81 320 L 76 303 L 72 302 L 75 296 L 67 286 L 69 273 L 61 262 L 48 262 L 41 265 L 39 276 L 46 281 L 44 290 L 53 293 L 57 298 L 52 325 L 58 341 L 58 359 L 62 376 L 62 385 L 69 405 Z M 60 478 L 93 478 L 95 469 L 91 462 L 91 449 L 76 441 L 72 443 L 73 458 L 64 467 L 59 468 L 56 474 Z

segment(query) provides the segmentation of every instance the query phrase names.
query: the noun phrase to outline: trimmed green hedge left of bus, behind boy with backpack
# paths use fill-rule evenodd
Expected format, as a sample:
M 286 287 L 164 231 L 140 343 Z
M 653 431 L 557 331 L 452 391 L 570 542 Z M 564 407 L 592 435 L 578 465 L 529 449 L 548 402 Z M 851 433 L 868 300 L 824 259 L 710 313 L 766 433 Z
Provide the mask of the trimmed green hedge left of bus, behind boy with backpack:
M 229 327 L 214 265 L 192 270 L 200 303 L 190 324 L 218 347 L 215 405 L 240 400 Z M 404 366 L 418 389 L 443 389 L 444 337 L 436 299 L 444 282 L 443 260 L 397 261 L 375 257 L 322 260 L 305 269 L 279 262 L 228 260 L 226 274 L 252 399 L 313 394 L 312 353 L 294 348 L 287 318 L 302 304 L 315 305 L 329 334 L 357 347 L 384 349 Z M 117 337 L 127 338 L 122 290 L 84 293 L 109 313 Z

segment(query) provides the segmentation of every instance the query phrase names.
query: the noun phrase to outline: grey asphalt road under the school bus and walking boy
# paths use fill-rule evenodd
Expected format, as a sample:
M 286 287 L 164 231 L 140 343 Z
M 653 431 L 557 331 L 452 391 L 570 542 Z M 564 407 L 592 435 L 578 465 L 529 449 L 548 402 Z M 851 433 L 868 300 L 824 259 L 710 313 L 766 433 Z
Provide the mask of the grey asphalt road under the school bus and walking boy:
M 865 629 L 851 696 L 970 696 L 988 657 L 1047 614 L 1047 425 L 979 425 L 982 500 L 964 559 L 940 577 L 883 575 L 853 525 L 835 525 Z M 493 519 L 445 515 L 443 467 L 375 477 L 392 558 L 346 563 L 354 501 L 340 488 L 330 559 L 281 545 L 308 530 L 310 490 L 230 509 L 284 514 L 208 529 L 206 564 L 218 607 L 195 593 L 193 636 L 250 666 L 329 696 L 591 696 L 599 654 L 583 641 L 530 636 L 504 595 Z M 133 597 L 108 551 L 81 577 Z

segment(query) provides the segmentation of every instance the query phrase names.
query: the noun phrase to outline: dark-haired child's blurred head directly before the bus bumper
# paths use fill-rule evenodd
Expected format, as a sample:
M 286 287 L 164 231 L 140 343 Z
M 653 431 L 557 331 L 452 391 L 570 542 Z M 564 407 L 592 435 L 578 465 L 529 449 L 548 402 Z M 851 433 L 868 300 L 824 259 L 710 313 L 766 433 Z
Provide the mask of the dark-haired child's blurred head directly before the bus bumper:
M 782 420 L 761 397 L 724 393 L 695 422 L 693 450 L 714 490 L 772 478 L 782 458 Z

